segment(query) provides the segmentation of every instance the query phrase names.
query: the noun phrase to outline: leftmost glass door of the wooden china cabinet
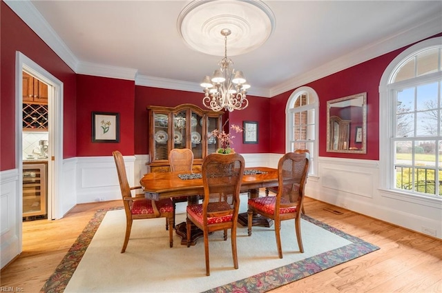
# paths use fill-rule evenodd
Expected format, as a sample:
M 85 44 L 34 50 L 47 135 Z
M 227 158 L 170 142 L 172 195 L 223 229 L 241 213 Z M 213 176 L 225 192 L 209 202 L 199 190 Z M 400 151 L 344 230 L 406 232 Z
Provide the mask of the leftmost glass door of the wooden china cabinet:
M 169 134 L 167 131 L 169 127 L 169 116 L 167 114 L 154 113 L 153 124 L 154 158 L 155 160 L 167 160 L 169 155 L 167 150 L 167 142 L 169 141 Z

